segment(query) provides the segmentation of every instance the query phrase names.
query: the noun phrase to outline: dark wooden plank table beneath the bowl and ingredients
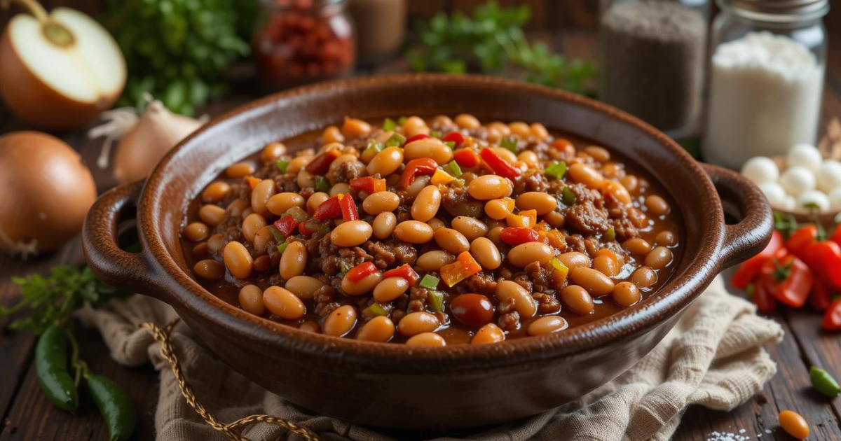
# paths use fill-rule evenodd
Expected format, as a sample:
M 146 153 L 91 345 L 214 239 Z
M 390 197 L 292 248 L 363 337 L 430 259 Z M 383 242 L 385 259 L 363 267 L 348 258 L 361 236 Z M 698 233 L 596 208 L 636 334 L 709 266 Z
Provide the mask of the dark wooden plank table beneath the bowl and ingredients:
M 823 121 L 830 116 L 841 117 L 841 26 L 832 22 L 841 21 L 841 11 L 830 16 L 828 28 L 833 30 L 828 62 L 828 79 L 824 94 Z M 595 53 L 594 35 L 589 32 L 565 34 L 538 33 L 534 39 L 542 39 L 556 50 L 570 56 L 592 59 Z M 394 61 L 379 66 L 376 73 L 405 71 L 405 63 Z M 373 72 L 363 72 L 373 73 Z M 214 103 L 205 112 L 217 114 L 225 109 L 246 102 L 256 94 L 240 93 Z M 8 111 L 0 107 L 0 134 L 25 129 L 13 120 Z M 97 171 L 94 162 L 98 155 L 98 141 L 87 140 L 83 131 L 62 134 L 62 138 L 77 150 L 91 165 L 98 185 L 103 190 L 111 182 L 108 173 Z M 10 280 L 11 276 L 24 276 L 31 272 L 46 274 L 50 267 L 58 264 L 82 265 L 84 259 L 79 240 L 52 255 L 21 261 L 0 256 L 0 302 L 11 305 L 19 298 L 19 289 Z M 808 368 L 819 365 L 841 377 L 841 336 L 819 332 L 820 315 L 810 311 L 785 311 L 774 316 L 783 328 L 782 343 L 768 348 L 776 361 L 779 372 L 753 399 L 733 412 L 713 412 L 703 407 L 691 407 L 683 417 L 683 423 L 674 436 L 675 440 L 704 440 L 713 431 L 739 433 L 750 439 L 791 439 L 782 433 L 776 424 L 778 412 L 793 409 L 804 415 L 812 426 L 810 439 L 841 439 L 841 399 L 828 402 L 812 391 L 809 386 Z M 8 321 L 0 321 L 5 328 Z M 92 330 L 80 330 L 82 356 L 91 368 L 112 376 L 128 388 L 129 394 L 139 412 L 139 424 L 135 439 L 154 439 L 154 416 L 157 401 L 158 377 L 151 366 L 125 368 L 115 364 L 108 356 L 108 350 Z M 31 333 L 0 331 L 0 441 L 8 440 L 106 440 L 108 430 L 103 426 L 93 403 L 87 394 L 82 394 L 79 413 L 73 416 L 50 404 L 41 393 L 32 364 L 34 337 Z M 198 391 L 200 395 L 202 391 Z M 769 430 L 770 433 L 766 433 Z M 761 438 L 759 435 L 762 435 Z

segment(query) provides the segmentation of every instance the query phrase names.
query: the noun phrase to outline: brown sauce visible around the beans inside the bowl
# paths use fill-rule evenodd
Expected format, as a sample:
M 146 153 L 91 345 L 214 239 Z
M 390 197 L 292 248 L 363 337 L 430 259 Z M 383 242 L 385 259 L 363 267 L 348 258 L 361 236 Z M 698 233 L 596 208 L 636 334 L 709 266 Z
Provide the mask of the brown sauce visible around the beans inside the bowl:
M 592 143 L 586 142 L 582 138 L 574 137 L 574 136 L 571 136 L 569 134 L 553 133 L 553 135 L 555 136 L 555 138 L 569 139 L 570 141 L 572 141 L 575 144 L 575 147 L 576 147 L 577 150 L 583 149 L 585 146 L 592 144 Z M 285 139 L 285 140 L 283 140 L 283 144 L 287 145 L 289 152 L 295 152 L 295 151 L 305 150 L 305 149 L 310 149 L 310 148 L 317 150 L 320 147 L 319 138 L 320 138 L 320 132 L 313 131 L 313 132 L 309 132 L 309 133 L 306 133 L 306 134 L 301 134 L 301 135 L 299 135 L 297 137 L 294 137 L 292 139 Z M 610 149 L 608 148 L 608 150 L 610 150 Z M 647 172 L 643 171 L 641 168 L 634 165 L 634 163 L 632 161 L 629 161 L 629 160 L 627 160 L 627 158 L 619 155 L 615 150 L 611 150 L 611 161 L 623 164 L 624 167 L 625 167 L 625 170 L 629 174 L 633 174 L 635 176 L 640 176 L 640 177 L 648 179 L 648 191 L 644 195 L 638 195 L 638 194 L 637 195 L 632 195 L 633 203 L 636 207 L 643 210 L 643 212 L 646 212 L 647 208 L 645 207 L 645 204 L 643 203 L 643 199 L 644 199 L 645 196 L 652 195 L 652 194 L 656 194 L 656 195 L 659 195 L 661 197 L 664 197 L 664 199 L 667 202 L 669 202 L 669 205 L 672 207 L 671 212 L 666 216 L 659 217 L 659 218 L 649 217 L 648 218 L 649 219 L 648 228 L 639 228 L 638 229 L 639 237 L 647 240 L 649 244 L 654 244 L 655 237 L 657 236 L 657 234 L 661 231 L 664 231 L 664 230 L 672 231 L 674 234 L 676 234 L 677 239 L 678 239 L 677 244 L 669 247 L 669 249 L 671 249 L 671 251 L 674 255 L 674 259 L 672 260 L 671 265 L 669 265 L 666 268 L 663 268 L 661 270 L 658 270 L 658 281 L 653 286 L 650 286 L 648 288 L 644 288 L 644 289 L 640 290 L 642 292 L 643 302 L 644 302 L 644 300 L 646 298 L 653 295 L 654 292 L 658 291 L 661 286 L 664 286 L 664 284 L 667 281 L 669 281 L 669 278 L 674 273 L 674 268 L 677 266 L 676 263 L 678 261 L 680 261 L 680 257 L 681 257 L 680 244 L 682 244 L 685 240 L 685 238 L 683 237 L 683 229 L 681 227 L 682 224 L 683 224 L 683 221 L 682 221 L 682 218 L 681 218 L 681 215 L 680 215 L 679 211 L 676 208 L 677 205 L 674 203 L 674 200 L 670 197 L 669 193 L 664 190 L 664 187 L 661 186 L 659 184 L 659 182 L 650 179 L 648 177 Z M 260 170 L 260 168 L 262 166 L 259 152 L 255 155 L 251 155 L 247 158 L 244 158 L 243 160 L 241 160 L 241 162 L 251 162 L 251 164 L 255 165 L 257 170 Z M 229 182 L 229 183 L 235 183 L 235 182 L 240 182 L 241 180 L 240 179 L 229 179 L 229 178 L 225 177 L 225 174 L 223 172 L 214 181 L 226 181 L 226 182 Z M 187 209 L 186 221 L 185 221 L 184 225 L 187 225 L 188 223 L 199 220 L 198 219 L 198 208 L 201 207 L 202 205 L 203 205 L 203 202 L 201 201 L 200 196 L 195 197 L 193 199 L 193 201 L 191 201 L 189 203 L 188 209 Z M 218 260 L 220 262 L 222 261 L 220 256 L 213 256 L 213 255 L 209 255 L 207 253 L 202 254 L 202 255 L 193 254 L 193 252 L 190 252 L 190 250 L 193 249 L 195 244 L 193 242 L 189 242 L 188 240 L 184 239 L 183 237 L 181 239 L 181 244 L 182 244 L 182 249 L 185 250 L 184 251 L 185 260 L 187 261 L 187 263 L 190 267 L 193 267 L 193 265 L 195 265 L 195 263 L 198 262 L 198 260 L 203 260 L 203 259 L 215 259 L 215 260 Z M 311 257 L 310 257 L 310 259 L 311 259 Z M 642 260 L 642 258 L 637 258 L 635 260 L 627 260 L 625 265 L 622 266 L 620 273 L 616 277 L 611 277 L 611 279 L 613 281 L 616 281 L 616 282 L 626 280 L 627 277 L 630 276 L 630 274 L 633 272 L 633 270 L 636 270 L 640 265 L 642 265 L 640 263 L 640 260 Z M 277 269 L 276 268 L 272 269 L 272 272 L 276 273 Z M 418 272 L 419 272 L 419 274 L 421 274 L 421 277 L 422 277 L 424 273 L 421 272 L 421 271 L 418 271 Z M 256 279 L 256 276 L 251 276 L 251 279 Z M 255 283 L 254 280 L 249 280 L 249 281 L 238 280 L 234 276 L 231 276 L 230 272 L 228 272 L 228 271 L 225 271 L 225 277 L 218 280 L 218 281 L 207 281 L 207 280 L 202 279 L 201 277 L 196 277 L 196 280 L 202 286 L 204 286 L 208 291 L 212 292 L 215 296 L 219 297 L 220 299 L 224 300 L 225 302 L 230 303 L 231 305 L 233 305 L 235 307 L 240 306 L 239 305 L 239 300 L 238 300 L 238 293 L 240 291 L 241 286 L 244 286 L 248 283 Z M 257 283 L 257 285 L 260 286 L 261 289 L 265 289 L 267 287 L 267 286 L 262 286 L 262 284 L 260 284 L 260 283 Z M 445 291 L 446 292 L 447 290 L 446 289 L 441 289 L 442 287 L 446 288 L 446 285 L 444 285 L 442 283 L 441 286 L 439 286 L 439 291 Z M 364 307 L 367 306 L 367 302 L 368 302 L 369 297 L 370 297 L 369 295 L 359 296 L 359 297 L 345 297 L 344 302 L 342 302 L 342 304 L 350 304 L 350 305 L 357 306 L 357 310 L 361 311 L 362 309 L 364 309 Z M 558 297 L 558 296 L 556 296 L 556 297 Z M 337 300 L 340 299 L 340 298 L 341 297 L 337 297 Z M 489 297 L 489 298 L 490 298 L 491 302 L 495 302 L 495 298 L 493 298 L 493 297 Z M 450 296 L 450 299 L 452 300 L 452 296 Z M 595 304 L 594 311 L 592 313 L 590 313 L 589 315 L 582 316 L 582 315 L 579 315 L 575 312 L 569 311 L 568 308 L 565 308 L 565 307 L 562 307 L 561 312 L 559 312 L 555 315 L 559 315 L 559 316 L 565 318 L 567 320 L 567 322 L 569 323 L 569 328 L 572 328 L 572 327 L 579 326 L 579 325 L 584 324 L 584 323 L 593 322 L 593 321 L 598 320 L 600 318 L 606 318 L 606 317 L 611 316 L 612 314 L 615 314 L 616 312 L 620 312 L 624 309 L 623 307 L 617 305 L 615 302 L 612 301 L 610 294 L 608 294 L 606 296 L 603 296 L 603 297 L 594 297 L 593 302 Z M 289 320 L 284 320 L 283 318 L 278 318 L 277 316 L 274 316 L 274 315 L 272 315 L 271 313 L 268 313 L 268 312 L 267 312 L 267 314 L 268 314 L 268 317 L 270 319 L 272 319 L 273 321 L 278 322 L 278 323 L 287 324 L 287 325 L 293 326 L 295 328 L 298 328 L 304 322 L 322 323 L 323 318 L 320 318 L 318 315 L 311 312 L 312 311 L 311 301 L 304 301 L 304 304 L 306 304 L 306 306 L 307 306 L 308 313 L 306 315 L 304 315 L 303 318 L 300 318 L 299 320 L 289 321 Z M 538 315 L 536 318 L 539 318 L 539 317 L 540 316 Z M 359 318 L 357 318 L 357 324 L 356 324 L 355 328 L 353 328 L 353 330 L 350 333 L 348 333 L 347 335 L 351 336 L 351 337 L 353 335 L 355 335 L 357 333 L 357 331 L 359 330 L 359 328 L 361 328 L 362 324 L 364 324 L 364 323 L 365 323 L 365 320 L 362 318 L 362 315 L 359 314 Z M 492 321 L 492 323 L 495 323 L 495 321 Z M 528 334 L 526 333 L 527 326 L 528 326 L 528 322 L 523 323 L 522 326 L 519 329 L 516 329 L 516 330 L 513 330 L 513 331 L 507 331 L 506 332 L 506 339 L 527 337 L 528 336 Z M 472 337 L 474 331 L 475 331 L 475 329 L 463 326 L 462 323 L 459 323 L 458 320 L 456 320 L 455 318 L 452 318 L 452 315 L 451 315 L 451 319 L 450 319 L 450 322 L 449 322 L 448 326 L 439 328 L 436 331 L 436 333 L 438 333 L 444 339 L 446 339 L 447 344 L 468 344 L 470 342 L 470 338 Z M 403 342 L 403 341 L 405 341 L 405 338 L 402 337 L 399 333 L 395 333 L 394 338 L 391 340 L 391 342 Z

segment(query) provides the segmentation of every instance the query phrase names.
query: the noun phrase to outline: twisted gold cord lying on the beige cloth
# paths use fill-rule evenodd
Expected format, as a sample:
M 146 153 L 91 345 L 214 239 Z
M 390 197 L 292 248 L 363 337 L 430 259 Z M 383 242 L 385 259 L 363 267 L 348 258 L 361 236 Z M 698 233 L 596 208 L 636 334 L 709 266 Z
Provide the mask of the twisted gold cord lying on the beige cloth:
M 173 320 L 172 323 L 169 323 L 166 327 L 161 328 L 155 323 L 147 322 L 140 324 L 140 328 L 150 329 L 152 338 L 161 343 L 161 356 L 164 360 L 167 360 L 172 368 L 172 374 L 175 375 L 175 381 L 178 382 L 178 387 L 181 389 L 181 395 L 184 396 L 184 399 L 187 400 L 190 407 L 193 407 L 193 410 L 198 413 L 198 416 L 202 417 L 204 422 L 208 423 L 211 428 L 220 431 L 225 434 L 226 437 L 234 441 L 248 441 L 248 438 L 243 438 L 235 431 L 245 428 L 246 426 L 250 426 L 251 424 L 268 423 L 285 428 L 289 432 L 297 433 L 304 437 L 304 439 L 307 439 L 307 441 L 320 441 L 318 435 L 309 430 L 309 428 L 303 428 L 296 423 L 292 423 L 291 421 L 286 421 L 278 417 L 272 417 L 271 415 L 251 415 L 249 417 L 240 418 L 233 423 L 220 423 L 216 417 L 211 415 L 210 412 L 208 412 L 208 410 L 205 409 L 200 402 L 198 402 L 195 393 L 193 393 L 193 387 L 191 387 L 188 384 L 187 379 L 184 378 L 184 374 L 181 370 L 181 364 L 178 363 L 175 348 L 172 346 L 172 341 L 170 340 L 170 333 L 172 333 L 172 328 L 176 323 L 178 323 L 178 319 Z

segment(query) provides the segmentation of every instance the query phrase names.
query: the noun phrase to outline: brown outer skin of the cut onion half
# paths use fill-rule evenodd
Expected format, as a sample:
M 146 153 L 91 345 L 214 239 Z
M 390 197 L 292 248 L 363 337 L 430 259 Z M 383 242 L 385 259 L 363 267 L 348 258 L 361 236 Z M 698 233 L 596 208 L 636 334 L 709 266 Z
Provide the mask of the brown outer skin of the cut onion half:
M 14 20 L 15 18 L 12 18 Z M 91 123 L 114 105 L 122 88 L 99 97 L 97 102 L 81 102 L 56 92 L 24 65 L 15 50 L 12 22 L 0 34 L 0 97 L 8 109 L 24 123 L 46 130 L 78 129 Z M 16 42 L 25 47 L 26 42 Z

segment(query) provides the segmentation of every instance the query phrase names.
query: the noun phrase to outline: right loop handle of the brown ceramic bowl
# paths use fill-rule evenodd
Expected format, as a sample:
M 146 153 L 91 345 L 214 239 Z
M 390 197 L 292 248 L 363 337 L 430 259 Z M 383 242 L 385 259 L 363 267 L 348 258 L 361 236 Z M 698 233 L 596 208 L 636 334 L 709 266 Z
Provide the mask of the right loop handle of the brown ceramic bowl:
M 719 251 L 721 268 L 737 265 L 765 248 L 774 230 L 774 215 L 768 199 L 753 182 L 715 165 L 701 164 L 716 186 L 724 213 L 738 223 L 724 227 L 724 244 Z

